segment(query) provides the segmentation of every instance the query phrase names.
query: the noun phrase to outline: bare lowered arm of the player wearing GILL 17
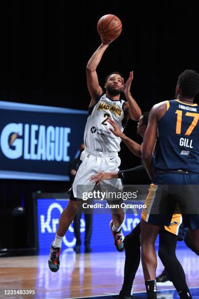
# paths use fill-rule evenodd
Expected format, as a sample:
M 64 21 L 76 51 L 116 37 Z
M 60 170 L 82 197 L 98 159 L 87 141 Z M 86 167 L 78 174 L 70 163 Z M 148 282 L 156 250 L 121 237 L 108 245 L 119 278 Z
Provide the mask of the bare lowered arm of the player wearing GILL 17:
M 153 167 L 153 151 L 157 139 L 157 123 L 166 113 L 166 102 L 161 102 L 152 107 L 149 113 L 148 126 L 144 134 L 144 140 L 141 146 L 141 158 L 146 171 L 151 179 L 154 178 L 155 170 Z

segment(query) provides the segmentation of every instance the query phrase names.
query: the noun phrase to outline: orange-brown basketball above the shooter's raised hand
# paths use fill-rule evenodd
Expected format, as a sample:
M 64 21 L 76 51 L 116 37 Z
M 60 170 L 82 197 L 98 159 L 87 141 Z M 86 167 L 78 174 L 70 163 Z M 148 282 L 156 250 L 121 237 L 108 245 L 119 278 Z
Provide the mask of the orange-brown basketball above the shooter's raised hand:
M 98 21 L 97 30 L 103 39 L 112 41 L 121 34 L 122 23 L 115 15 L 105 15 Z

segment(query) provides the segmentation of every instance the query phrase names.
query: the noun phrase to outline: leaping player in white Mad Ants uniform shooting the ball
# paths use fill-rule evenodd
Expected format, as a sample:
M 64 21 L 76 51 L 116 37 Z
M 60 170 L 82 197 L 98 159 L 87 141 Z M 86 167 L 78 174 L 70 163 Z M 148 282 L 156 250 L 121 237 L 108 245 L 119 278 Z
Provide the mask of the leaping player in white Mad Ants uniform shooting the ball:
M 62 238 L 72 223 L 75 214 L 82 205 L 83 200 L 78 192 L 77 186 L 83 186 L 88 192 L 93 190 L 93 183 L 89 181 L 90 176 L 100 171 L 119 171 L 121 139 L 110 132 L 111 126 L 108 118 L 114 120 L 118 127 L 123 130 L 129 118 L 138 121 L 141 116 L 141 110 L 130 93 L 133 72 L 130 72 L 129 78 L 124 83 L 124 79 L 119 72 L 109 74 L 105 79 L 104 93 L 99 85 L 96 68 L 100 63 L 104 51 L 112 41 L 104 40 L 101 37 L 101 45 L 90 58 L 86 67 L 87 86 L 91 95 L 91 102 L 88 108 L 89 116 L 84 131 L 85 149 L 81 153 L 78 171 L 71 190 L 71 197 L 66 209 L 60 216 L 58 231 L 51 245 L 50 257 L 48 260 L 49 268 L 57 272 L 60 267 L 60 249 Z M 123 91 L 127 102 L 120 99 L 120 93 Z M 117 186 L 122 188 L 121 179 L 106 181 L 108 186 Z M 78 194 L 77 194 L 78 192 Z M 81 193 L 82 194 L 82 193 Z M 124 220 L 122 209 L 112 211 L 112 221 L 110 228 L 114 236 L 114 242 L 119 252 L 124 250 L 123 234 L 121 225 Z M 105 246 L 105 244 L 99 244 Z

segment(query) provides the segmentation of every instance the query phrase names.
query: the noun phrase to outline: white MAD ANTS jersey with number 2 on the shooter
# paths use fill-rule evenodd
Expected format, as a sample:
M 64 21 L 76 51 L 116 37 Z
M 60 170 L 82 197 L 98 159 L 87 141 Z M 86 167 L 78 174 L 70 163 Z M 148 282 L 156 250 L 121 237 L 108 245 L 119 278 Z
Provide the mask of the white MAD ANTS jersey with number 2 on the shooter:
M 123 100 L 114 101 L 109 99 L 106 94 L 102 94 L 98 102 L 89 108 L 89 116 L 84 131 L 86 148 L 104 153 L 119 152 L 121 138 L 109 130 L 113 127 L 107 119 L 108 117 L 112 119 L 123 131 L 127 122 L 124 119 L 124 102 Z

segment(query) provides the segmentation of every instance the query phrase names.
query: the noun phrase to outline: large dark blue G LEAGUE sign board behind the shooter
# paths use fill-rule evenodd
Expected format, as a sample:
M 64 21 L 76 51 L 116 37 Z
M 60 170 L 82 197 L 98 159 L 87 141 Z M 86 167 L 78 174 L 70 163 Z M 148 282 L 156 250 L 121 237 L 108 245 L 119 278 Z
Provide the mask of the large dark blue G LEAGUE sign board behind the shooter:
M 87 111 L 0 101 L 0 178 L 69 180 Z

